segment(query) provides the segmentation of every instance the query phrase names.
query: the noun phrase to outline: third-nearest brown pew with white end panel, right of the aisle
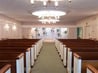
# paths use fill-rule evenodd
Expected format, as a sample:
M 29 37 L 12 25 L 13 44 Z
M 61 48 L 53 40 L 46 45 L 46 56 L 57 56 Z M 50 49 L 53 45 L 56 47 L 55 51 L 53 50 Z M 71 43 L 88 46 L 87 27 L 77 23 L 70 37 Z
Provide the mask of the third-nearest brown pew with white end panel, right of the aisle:
M 91 48 L 91 47 L 70 47 L 68 48 L 67 52 L 67 71 L 68 73 L 72 73 L 73 71 L 73 52 L 98 52 L 98 48 Z

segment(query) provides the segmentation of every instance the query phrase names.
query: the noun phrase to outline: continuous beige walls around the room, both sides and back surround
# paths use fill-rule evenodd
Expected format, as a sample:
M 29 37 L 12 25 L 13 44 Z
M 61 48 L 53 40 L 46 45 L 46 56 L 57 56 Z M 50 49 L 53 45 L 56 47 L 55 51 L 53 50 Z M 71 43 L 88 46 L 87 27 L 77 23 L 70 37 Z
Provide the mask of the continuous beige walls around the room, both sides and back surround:
M 12 30 L 13 24 L 16 23 L 16 31 Z M 5 24 L 9 24 L 9 30 L 4 29 Z M 98 15 L 90 16 L 85 19 L 82 19 L 76 23 L 76 25 L 43 25 L 43 24 L 33 24 L 32 23 L 23 23 L 9 18 L 5 15 L 0 14 L 0 39 L 6 38 L 31 38 L 31 28 L 32 27 L 67 27 L 68 28 L 68 38 L 74 39 L 77 38 L 76 27 L 83 27 L 83 36 L 82 38 L 91 38 L 98 40 Z

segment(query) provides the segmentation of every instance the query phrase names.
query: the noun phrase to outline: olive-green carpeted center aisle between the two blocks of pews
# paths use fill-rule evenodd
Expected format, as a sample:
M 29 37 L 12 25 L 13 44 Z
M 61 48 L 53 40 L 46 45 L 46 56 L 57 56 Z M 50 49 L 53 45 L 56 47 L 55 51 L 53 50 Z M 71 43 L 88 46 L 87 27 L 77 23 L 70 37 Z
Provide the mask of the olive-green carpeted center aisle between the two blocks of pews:
M 54 43 L 44 43 L 31 73 L 67 73 Z

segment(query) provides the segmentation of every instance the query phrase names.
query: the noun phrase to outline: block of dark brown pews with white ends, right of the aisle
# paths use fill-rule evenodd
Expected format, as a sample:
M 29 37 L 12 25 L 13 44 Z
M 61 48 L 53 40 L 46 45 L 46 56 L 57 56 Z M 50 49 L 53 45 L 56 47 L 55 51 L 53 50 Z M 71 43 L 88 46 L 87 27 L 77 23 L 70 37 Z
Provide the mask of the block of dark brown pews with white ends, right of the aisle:
M 58 39 L 55 46 L 68 73 L 98 73 L 98 41 Z

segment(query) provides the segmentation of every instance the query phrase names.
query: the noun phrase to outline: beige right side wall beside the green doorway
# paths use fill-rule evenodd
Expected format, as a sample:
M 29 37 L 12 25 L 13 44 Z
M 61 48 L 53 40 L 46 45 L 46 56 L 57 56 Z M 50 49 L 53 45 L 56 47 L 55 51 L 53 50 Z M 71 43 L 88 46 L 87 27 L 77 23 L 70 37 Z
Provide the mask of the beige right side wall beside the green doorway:
M 98 40 L 98 15 L 87 17 L 77 22 L 77 26 L 83 27 L 83 37 Z

